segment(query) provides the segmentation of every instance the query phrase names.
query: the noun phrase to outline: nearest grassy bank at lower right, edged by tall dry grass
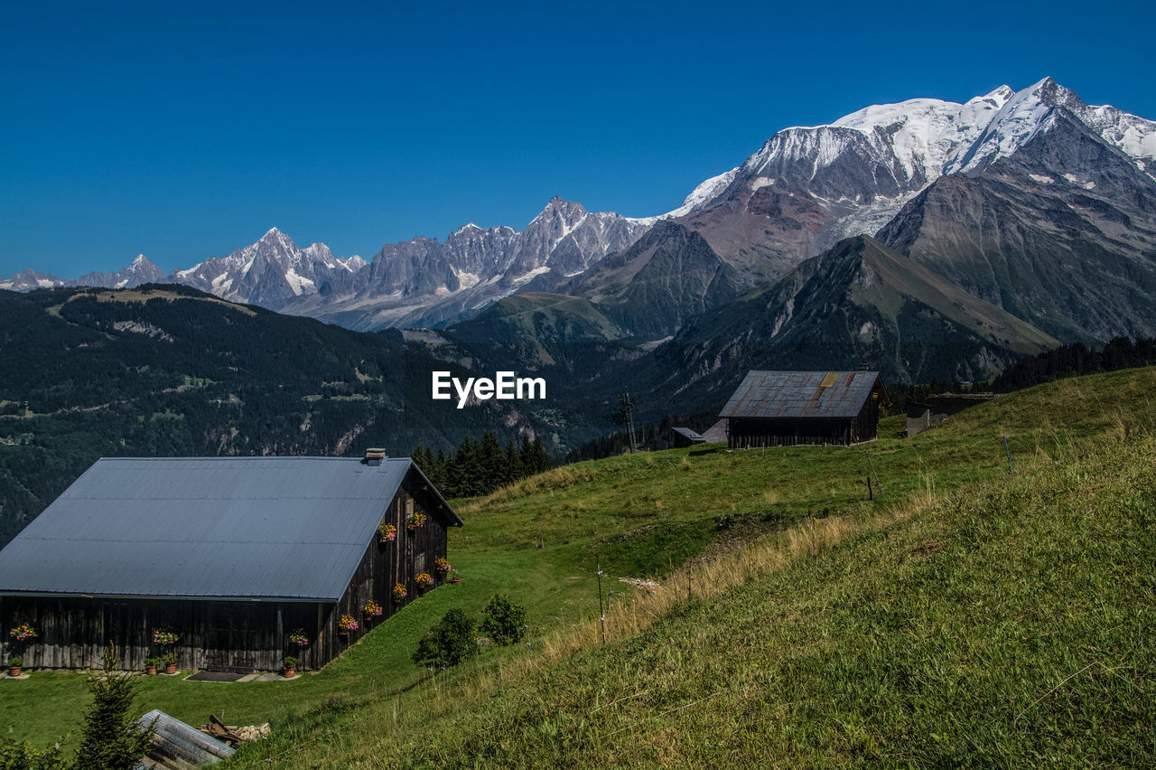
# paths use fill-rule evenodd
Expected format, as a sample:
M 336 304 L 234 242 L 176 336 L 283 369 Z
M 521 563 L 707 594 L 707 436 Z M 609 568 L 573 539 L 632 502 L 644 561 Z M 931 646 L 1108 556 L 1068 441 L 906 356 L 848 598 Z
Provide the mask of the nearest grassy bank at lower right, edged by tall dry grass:
M 1074 385 L 1065 399 L 1094 390 Z M 361 701 L 369 733 L 305 730 L 277 765 L 1149 767 L 1156 442 L 1139 405 L 1030 444 L 1006 414 L 959 421 L 1017 437 L 1015 473 L 916 462 L 885 504 L 805 514 L 445 688 Z

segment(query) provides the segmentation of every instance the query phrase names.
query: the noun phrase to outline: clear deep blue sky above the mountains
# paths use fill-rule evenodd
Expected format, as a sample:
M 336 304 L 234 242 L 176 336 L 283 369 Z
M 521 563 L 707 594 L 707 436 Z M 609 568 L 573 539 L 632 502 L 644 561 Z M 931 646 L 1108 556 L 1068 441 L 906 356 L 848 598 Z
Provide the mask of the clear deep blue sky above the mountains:
M 0 275 L 276 225 L 369 258 L 560 194 L 669 210 L 777 129 L 1052 75 L 1156 118 L 1148 3 L 8 2 Z

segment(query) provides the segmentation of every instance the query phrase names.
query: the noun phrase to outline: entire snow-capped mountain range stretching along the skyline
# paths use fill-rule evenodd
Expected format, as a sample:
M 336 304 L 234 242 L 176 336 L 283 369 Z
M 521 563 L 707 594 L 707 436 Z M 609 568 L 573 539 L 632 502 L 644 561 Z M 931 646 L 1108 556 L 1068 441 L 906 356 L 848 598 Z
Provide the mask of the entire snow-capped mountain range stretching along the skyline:
M 576 276 L 624 252 L 657 223 L 674 221 L 705 238 L 729 271 L 728 286 L 741 291 L 779 277 L 845 237 L 880 232 L 939 180 L 983 175 L 1057 126 L 1069 134 L 1080 126 L 1094 145 L 1127 160 L 1144 179 L 1156 175 L 1156 123 L 1112 106 L 1089 106 L 1045 77 L 1020 91 L 1001 86 L 962 104 L 914 98 L 867 106 L 828 125 L 785 128 L 741 165 L 699 184 L 682 206 L 657 216 L 592 213 L 555 198 L 523 230 L 467 224 L 445 240 L 386 244 L 369 262 L 339 259 L 324 244 L 301 249 L 274 228 L 250 246 L 165 280 L 353 328 L 443 326 L 513 293 L 623 286 L 637 272 L 633 261 L 608 262 L 591 281 Z M 1095 175 L 1083 173 L 1079 166 L 1095 162 L 1089 160 L 1095 148 L 1081 155 L 1057 150 L 1054 142 L 1051 147 L 1072 168 L 1057 171 L 1058 165 L 1045 163 L 1015 184 L 1047 185 L 1059 173 L 1064 184 L 1081 180 L 1085 191 L 1099 184 L 1097 194 L 1109 194 L 1106 185 L 1120 179 L 1097 177 L 1097 183 Z M 1146 183 L 1124 179 L 1120 194 L 1131 194 L 1136 184 Z M 1147 243 L 1147 236 L 1139 242 Z M 672 249 L 680 243 L 675 238 Z M 670 277 L 670 286 L 684 284 Z M 67 282 L 25 271 L 0 288 L 157 280 L 160 271 L 141 257 L 118 273 Z

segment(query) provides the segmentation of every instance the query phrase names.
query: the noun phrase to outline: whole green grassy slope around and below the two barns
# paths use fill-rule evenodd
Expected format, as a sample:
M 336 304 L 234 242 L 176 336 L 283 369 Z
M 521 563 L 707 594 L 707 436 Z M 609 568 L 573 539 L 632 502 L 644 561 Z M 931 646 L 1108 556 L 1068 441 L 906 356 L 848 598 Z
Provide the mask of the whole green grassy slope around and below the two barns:
M 242 767 L 474 754 L 538 767 L 1023 764 L 1074 756 L 1082 740 L 1102 756 L 1153 752 L 1151 649 L 1139 631 L 1156 556 L 1154 387 L 1156 369 L 1127 370 L 1011 394 L 913 439 L 894 437 L 892 419 L 852 449 L 677 450 L 560 468 L 460 502 L 467 526 L 450 560 L 465 583 L 326 671 L 267 684 L 148 680 L 141 711 L 272 719 L 275 739 Z M 884 494 L 867 501 L 873 468 Z M 944 495 L 950 504 L 927 512 Z M 615 641 L 600 650 L 595 553 L 616 602 Z M 653 595 L 616 579 L 664 578 L 684 560 L 689 605 L 684 573 L 668 582 L 677 593 Z M 529 608 L 533 646 L 452 672 L 442 697 L 408 661 L 417 637 L 499 590 Z M 1027 709 L 1089 665 L 1058 690 L 1077 702 Z M 74 673 L 0 681 L 0 728 L 39 742 L 75 733 L 86 699 Z

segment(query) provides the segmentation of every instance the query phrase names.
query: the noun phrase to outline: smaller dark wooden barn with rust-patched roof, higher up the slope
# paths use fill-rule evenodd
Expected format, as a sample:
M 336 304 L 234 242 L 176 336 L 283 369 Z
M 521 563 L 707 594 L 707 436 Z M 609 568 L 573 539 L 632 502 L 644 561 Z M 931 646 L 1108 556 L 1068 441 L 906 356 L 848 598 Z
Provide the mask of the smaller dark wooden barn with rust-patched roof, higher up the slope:
M 750 371 L 722 407 L 731 449 L 858 444 L 887 401 L 877 371 Z

